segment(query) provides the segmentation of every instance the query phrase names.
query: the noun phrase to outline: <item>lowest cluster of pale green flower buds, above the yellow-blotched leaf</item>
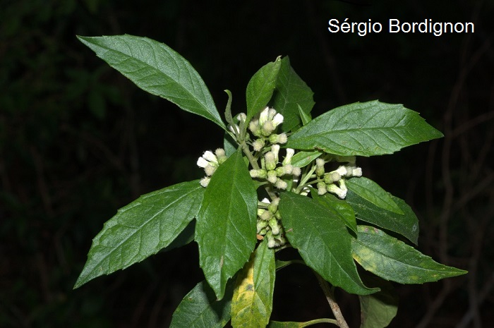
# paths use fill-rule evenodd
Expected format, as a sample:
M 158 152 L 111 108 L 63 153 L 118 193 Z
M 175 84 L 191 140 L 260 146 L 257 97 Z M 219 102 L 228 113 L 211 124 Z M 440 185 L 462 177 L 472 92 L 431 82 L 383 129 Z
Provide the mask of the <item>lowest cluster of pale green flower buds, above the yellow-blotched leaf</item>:
M 279 247 L 287 243 L 278 204 L 279 198 L 273 199 L 272 202 L 265 198 L 258 206 L 258 238 L 267 238 L 267 247 L 269 248 Z

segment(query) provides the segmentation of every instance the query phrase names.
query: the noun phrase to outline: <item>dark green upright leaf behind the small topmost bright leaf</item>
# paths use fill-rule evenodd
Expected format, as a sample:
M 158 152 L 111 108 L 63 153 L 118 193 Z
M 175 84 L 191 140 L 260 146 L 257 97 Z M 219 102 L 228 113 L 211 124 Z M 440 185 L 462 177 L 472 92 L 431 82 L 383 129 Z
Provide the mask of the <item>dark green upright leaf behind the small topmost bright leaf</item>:
M 276 91 L 272 97 L 272 107 L 284 117 L 281 126 L 283 132 L 288 132 L 301 124 L 299 107 L 305 114 L 304 119 L 310 118 L 314 106 L 313 95 L 311 88 L 291 68 L 290 59 L 284 57 L 276 81 Z

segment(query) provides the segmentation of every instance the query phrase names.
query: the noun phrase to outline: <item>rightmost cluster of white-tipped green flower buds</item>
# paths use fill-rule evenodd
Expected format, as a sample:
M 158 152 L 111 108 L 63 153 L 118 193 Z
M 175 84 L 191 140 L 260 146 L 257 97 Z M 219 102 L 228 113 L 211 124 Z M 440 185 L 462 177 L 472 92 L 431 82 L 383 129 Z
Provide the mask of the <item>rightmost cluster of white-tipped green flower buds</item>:
M 348 189 L 344 178 L 362 176 L 362 169 L 351 163 L 346 166 L 341 165 L 335 171 L 325 173 L 325 163 L 325 160 L 321 158 L 315 160 L 315 175 L 320 178 L 318 182 L 318 194 L 334 193 L 339 198 L 345 198 Z

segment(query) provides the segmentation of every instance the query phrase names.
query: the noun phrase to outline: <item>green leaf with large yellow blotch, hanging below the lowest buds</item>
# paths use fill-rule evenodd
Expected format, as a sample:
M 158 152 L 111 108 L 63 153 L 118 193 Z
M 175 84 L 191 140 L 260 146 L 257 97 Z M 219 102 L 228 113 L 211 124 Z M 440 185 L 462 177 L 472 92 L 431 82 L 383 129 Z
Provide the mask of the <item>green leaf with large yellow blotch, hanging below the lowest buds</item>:
M 275 276 L 275 251 L 263 241 L 237 277 L 231 298 L 233 327 L 266 327 L 272 312 Z

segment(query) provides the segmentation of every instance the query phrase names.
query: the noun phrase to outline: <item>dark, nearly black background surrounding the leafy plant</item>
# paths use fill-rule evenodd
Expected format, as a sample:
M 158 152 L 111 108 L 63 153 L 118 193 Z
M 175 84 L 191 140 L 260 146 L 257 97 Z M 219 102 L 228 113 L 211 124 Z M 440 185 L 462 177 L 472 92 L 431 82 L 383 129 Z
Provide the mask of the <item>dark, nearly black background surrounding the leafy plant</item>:
M 315 92 L 313 116 L 380 99 L 421 113 L 445 138 L 359 160 L 411 205 L 418 248 L 469 274 L 398 286 L 392 327 L 494 322 L 493 1 L 1 1 L 0 327 L 167 327 L 203 279 L 195 243 L 73 291 L 92 238 L 138 195 L 200 178 L 214 123 L 147 95 L 76 40 L 128 33 L 179 51 L 222 111 L 279 55 Z M 473 22 L 475 33 L 365 37 L 327 21 Z M 275 320 L 331 317 L 308 270 L 283 269 Z M 355 297 L 338 294 L 351 327 Z M 321 326 L 323 327 L 323 326 Z

